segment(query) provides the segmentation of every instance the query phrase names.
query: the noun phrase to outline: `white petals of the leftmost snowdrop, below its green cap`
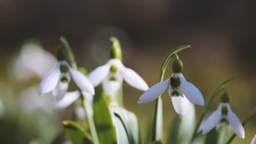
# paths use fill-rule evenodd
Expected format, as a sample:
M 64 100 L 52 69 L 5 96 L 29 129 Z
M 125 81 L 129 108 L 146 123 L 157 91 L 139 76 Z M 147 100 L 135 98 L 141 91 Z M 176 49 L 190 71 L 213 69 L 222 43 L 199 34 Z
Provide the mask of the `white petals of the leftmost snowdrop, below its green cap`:
M 38 94 L 41 96 L 52 92 L 54 98 L 59 101 L 67 93 L 68 83 L 71 78 L 82 91 L 94 95 L 94 88 L 87 77 L 77 69 L 70 67 L 66 61 L 59 61 L 56 66 L 45 75 L 40 83 Z

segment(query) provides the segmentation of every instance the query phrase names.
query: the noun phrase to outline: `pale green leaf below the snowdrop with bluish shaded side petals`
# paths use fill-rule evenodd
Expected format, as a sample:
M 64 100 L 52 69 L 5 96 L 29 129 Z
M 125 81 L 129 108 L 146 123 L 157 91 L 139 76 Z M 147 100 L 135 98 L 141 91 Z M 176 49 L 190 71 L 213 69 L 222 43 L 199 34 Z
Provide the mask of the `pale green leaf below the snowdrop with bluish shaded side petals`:
M 195 106 L 190 103 L 186 115 L 177 115 L 173 120 L 167 144 L 190 144 L 195 127 Z

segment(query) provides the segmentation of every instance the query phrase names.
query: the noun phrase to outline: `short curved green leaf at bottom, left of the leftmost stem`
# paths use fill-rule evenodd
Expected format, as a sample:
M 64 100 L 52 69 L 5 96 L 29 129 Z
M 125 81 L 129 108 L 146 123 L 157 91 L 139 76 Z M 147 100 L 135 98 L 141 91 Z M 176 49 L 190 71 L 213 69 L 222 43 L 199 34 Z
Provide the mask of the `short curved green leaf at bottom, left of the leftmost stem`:
M 92 144 L 91 137 L 79 124 L 67 120 L 63 121 L 62 125 L 64 125 L 67 140 L 72 144 Z

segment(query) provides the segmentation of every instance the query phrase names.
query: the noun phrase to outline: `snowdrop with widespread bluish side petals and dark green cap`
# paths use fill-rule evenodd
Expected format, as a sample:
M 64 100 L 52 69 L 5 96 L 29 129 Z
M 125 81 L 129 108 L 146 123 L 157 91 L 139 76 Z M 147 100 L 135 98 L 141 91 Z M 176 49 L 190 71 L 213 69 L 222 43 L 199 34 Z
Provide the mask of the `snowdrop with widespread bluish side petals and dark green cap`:
M 139 98 L 138 103 L 146 103 L 157 99 L 157 97 L 166 90 L 170 81 L 168 94 L 171 97 L 174 110 L 178 114 L 185 115 L 187 113 L 189 101 L 203 106 L 204 99 L 202 93 L 195 87 L 195 85 L 187 82 L 182 75 L 183 66 L 180 59 L 173 61 L 172 69 L 173 75 L 167 80 L 157 83 L 145 91 Z

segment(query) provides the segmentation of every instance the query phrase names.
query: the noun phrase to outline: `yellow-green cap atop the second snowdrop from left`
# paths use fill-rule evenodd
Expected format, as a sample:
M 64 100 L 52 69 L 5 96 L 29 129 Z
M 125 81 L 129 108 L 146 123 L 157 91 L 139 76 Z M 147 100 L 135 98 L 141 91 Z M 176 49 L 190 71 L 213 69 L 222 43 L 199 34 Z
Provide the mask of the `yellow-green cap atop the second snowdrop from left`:
M 112 41 L 112 46 L 110 50 L 110 59 L 122 59 L 122 50 L 120 46 L 120 42 L 117 37 L 110 37 L 109 39 Z

